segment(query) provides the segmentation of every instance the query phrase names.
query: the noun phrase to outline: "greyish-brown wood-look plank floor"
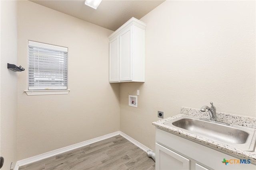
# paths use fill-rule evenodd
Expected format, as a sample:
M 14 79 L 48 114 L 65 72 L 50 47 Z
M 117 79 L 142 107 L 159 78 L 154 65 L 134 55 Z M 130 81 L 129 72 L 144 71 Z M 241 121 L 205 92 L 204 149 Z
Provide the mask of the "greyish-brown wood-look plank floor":
M 154 170 L 148 154 L 118 135 L 52 156 L 19 170 Z

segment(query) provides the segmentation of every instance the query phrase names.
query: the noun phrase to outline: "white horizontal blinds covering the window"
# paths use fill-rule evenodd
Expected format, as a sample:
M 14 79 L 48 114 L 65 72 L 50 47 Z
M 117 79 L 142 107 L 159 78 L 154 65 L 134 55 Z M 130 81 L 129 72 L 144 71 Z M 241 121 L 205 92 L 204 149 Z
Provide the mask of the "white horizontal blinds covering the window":
M 67 89 L 68 48 L 28 41 L 28 90 Z

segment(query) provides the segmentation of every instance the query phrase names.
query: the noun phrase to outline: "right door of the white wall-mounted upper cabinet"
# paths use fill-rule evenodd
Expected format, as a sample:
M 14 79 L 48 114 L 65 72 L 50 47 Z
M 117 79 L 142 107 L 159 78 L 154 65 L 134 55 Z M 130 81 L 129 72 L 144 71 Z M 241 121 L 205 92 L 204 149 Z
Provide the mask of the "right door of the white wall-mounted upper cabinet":
M 125 29 L 119 36 L 119 80 L 132 80 L 132 27 Z

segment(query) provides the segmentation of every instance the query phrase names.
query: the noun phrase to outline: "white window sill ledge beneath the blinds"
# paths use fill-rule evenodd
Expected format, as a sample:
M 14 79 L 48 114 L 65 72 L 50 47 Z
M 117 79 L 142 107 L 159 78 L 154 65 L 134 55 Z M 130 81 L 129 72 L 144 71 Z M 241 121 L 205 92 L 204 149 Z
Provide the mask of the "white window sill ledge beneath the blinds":
M 34 95 L 52 95 L 52 94 L 68 94 L 70 90 L 25 90 L 28 96 Z

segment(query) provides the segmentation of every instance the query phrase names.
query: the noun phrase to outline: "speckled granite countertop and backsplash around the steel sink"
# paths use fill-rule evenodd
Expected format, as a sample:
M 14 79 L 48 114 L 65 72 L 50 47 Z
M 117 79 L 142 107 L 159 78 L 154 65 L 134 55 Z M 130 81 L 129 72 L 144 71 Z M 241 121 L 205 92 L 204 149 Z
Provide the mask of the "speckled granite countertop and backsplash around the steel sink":
M 209 119 L 209 115 L 207 112 L 202 112 L 199 109 L 192 109 L 192 108 L 187 108 L 187 107 L 182 107 L 181 108 L 181 114 L 168 117 L 166 119 L 161 119 L 159 121 L 155 121 L 152 123 L 152 125 L 155 125 L 156 127 L 159 127 L 161 129 L 164 129 L 166 131 L 170 131 L 171 133 L 174 133 L 176 135 L 180 135 L 182 137 L 188 138 L 192 141 L 196 141 L 199 143 L 202 143 L 204 145 L 208 145 L 210 147 L 214 147 L 218 150 L 222 150 L 224 152 L 228 152 L 230 154 L 234 154 L 236 156 L 240 156 L 245 159 L 250 159 L 254 164 L 256 164 L 256 149 L 253 152 L 245 151 L 242 149 L 235 148 L 230 145 L 226 145 L 224 143 L 220 143 L 218 141 L 214 141 L 211 139 L 208 139 L 206 137 L 202 137 L 200 135 L 195 135 L 193 133 L 189 133 L 187 131 L 183 131 L 178 128 L 170 127 L 168 125 L 164 125 L 166 121 L 170 121 L 173 119 L 176 119 L 178 117 L 182 117 L 185 115 L 189 116 L 194 116 L 194 117 L 200 117 L 204 119 Z M 256 118 L 254 117 L 244 117 L 244 116 L 239 116 L 239 115 L 230 115 L 227 113 L 220 113 L 217 112 L 217 119 L 218 121 L 230 123 L 233 125 L 240 125 L 244 127 L 250 127 L 253 129 L 256 129 Z

